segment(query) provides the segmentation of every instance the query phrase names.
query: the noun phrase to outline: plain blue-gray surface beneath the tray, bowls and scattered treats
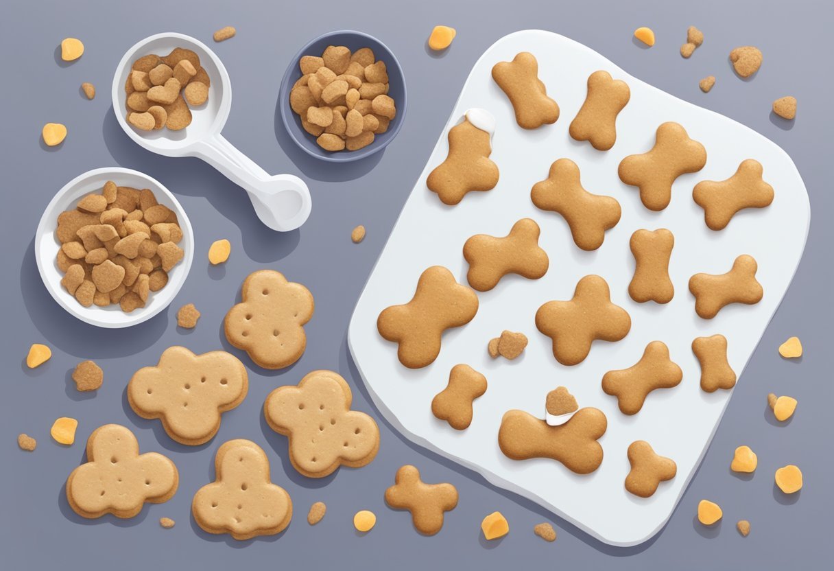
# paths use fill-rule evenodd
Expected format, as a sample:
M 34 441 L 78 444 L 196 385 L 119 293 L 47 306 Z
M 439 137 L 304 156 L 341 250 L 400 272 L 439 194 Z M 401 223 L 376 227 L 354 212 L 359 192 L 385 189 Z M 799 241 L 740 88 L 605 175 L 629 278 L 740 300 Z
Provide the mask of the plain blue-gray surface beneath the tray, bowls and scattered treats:
M 0 397 L 0 560 L 8 568 L 777 568 L 803 562 L 816 567 L 830 560 L 831 510 L 831 9 L 823 2 L 574 2 L 503 3 L 424 0 L 420 3 L 329 2 L 219 3 L 180 0 L 6 3 L 0 21 L 4 87 L 0 90 L 3 169 L 0 235 L 3 244 L 3 336 L 0 343 L 3 393 Z M 425 40 L 437 23 L 458 29 L 455 43 L 440 56 Z M 214 45 L 211 33 L 224 25 L 238 36 Z M 678 53 L 686 27 L 694 24 L 706 41 L 684 60 Z M 655 29 L 654 48 L 632 42 L 638 26 Z M 302 154 L 284 133 L 276 114 L 278 86 L 288 58 L 309 38 L 329 30 L 354 28 L 371 33 L 398 56 L 409 88 L 409 111 L 399 137 L 364 162 L 325 164 Z M 811 234 L 785 301 L 736 387 L 709 452 L 670 522 L 655 539 L 635 548 L 610 548 L 589 538 L 535 504 L 491 488 L 464 468 L 406 442 L 380 419 L 369 403 L 347 351 L 349 316 L 364 281 L 420 174 L 480 53 L 506 33 L 544 28 L 595 49 L 628 73 L 681 99 L 740 121 L 780 144 L 796 162 L 811 196 Z M 234 101 L 224 135 L 264 169 L 299 174 L 308 181 L 314 208 L 299 231 L 267 230 L 243 191 L 198 159 L 167 159 L 133 144 L 119 129 L 110 106 L 114 67 L 133 43 L 153 33 L 177 31 L 216 48 L 234 84 Z M 60 61 L 56 47 L 66 36 L 87 48 L 75 63 Z M 727 53 L 753 44 L 764 65 L 750 81 L 731 71 Z M 698 80 L 714 74 L 716 87 L 701 93 Z M 98 88 L 87 101 L 79 85 Z M 771 115 L 782 95 L 799 100 L 792 124 Z M 566 120 L 565 118 L 563 120 Z M 57 149 L 40 141 L 44 123 L 68 126 Z M 564 125 L 563 125 L 564 127 Z M 194 227 L 194 265 L 168 311 L 123 331 L 86 326 L 62 311 L 48 295 L 35 267 L 33 233 L 43 208 L 69 179 L 108 165 L 138 169 L 168 186 Z M 778 189 L 777 189 L 778 192 Z M 357 224 L 368 229 L 361 245 L 349 240 Z M 427 224 L 430 231 L 430 224 Z M 778 232 L 780 229 L 773 229 Z M 229 262 L 209 267 L 208 245 L 228 238 Z M 284 371 L 264 371 L 230 349 L 222 318 L 239 296 L 245 275 L 261 268 L 284 272 L 304 283 L 316 301 L 306 328 L 309 344 L 299 362 Z M 179 306 L 193 302 L 203 317 L 194 331 L 176 326 Z M 800 336 L 806 355 L 783 361 L 776 347 Z M 23 362 L 29 344 L 45 342 L 53 358 L 29 371 Z M 124 388 L 141 366 L 153 364 L 164 348 L 181 344 L 203 352 L 226 348 L 250 366 L 249 397 L 224 414 L 214 441 L 182 447 L 165 436 L 158 422 L 138 418 Z M 78 361 L 103 366 L 105 381 L 95 395 L 75 391 L 70 378 Z M 354 388 L 354 407 L 379 421 L 379 456 L 368 467 L 341 469 L 310 480 L 294 472 L 284 437 L 266 427 L 261 407 L 274 387 L 297 383 L 307 371 L 330 368 Z M 392 379 L 395 382 L 395 379 Z M 766 410 L 766 393 L 799 400 L 796 416 L 776 426 Z M 62 447 L 49 437 L 56 417 L 80 421 L 77 441 Z M 84 520 L 68 507 L 63 483 L 83 462 L 84 442 L 95 427 L 118 422 L 131 427 L 143 450 L 168 453 L 181 481 L 168 503 L 151 505 L 138 517 Z M 25 453 L 18 432 L 38 438 Z M 229 438 L 258 442 L 272 462 L 273 480 L 287 488 L 296 513 L 277 537 L 235 542 L 203 533 L 190 517 L 193 493 L 213 478 L 214 451 Z M 729 470 L 732 451 L 747 444 L 759 456 L 751 478 Z M 454 483 L 460 504 L 447 515 L 442 532 L 425 538 L 407 513 L 385 507 L 384 488 L 401 464 L 414 463 L 426 481 Z M 786 498 L 774 488 L 773 472 L 798 464 L 806 488 Z M 705 530 L 695 520 L 701 498 L 724 509 L 724 521 Z M 314 501 L 328 514 L 311 528 L 304 518 Z M 368 508 L 377 527 L 359 537 L 353 513 Z M 605 509 L 605 506 L 600 506 Z M 487 543 L 480 520 L 500 510 L 511 531 Z M 167 516 L 172 530 L 159 527 Z M 741 538 L 736 520 L 751 521 Z M 532 533 L 535 523 L 552 521 L 559 538 L 550 544 Z

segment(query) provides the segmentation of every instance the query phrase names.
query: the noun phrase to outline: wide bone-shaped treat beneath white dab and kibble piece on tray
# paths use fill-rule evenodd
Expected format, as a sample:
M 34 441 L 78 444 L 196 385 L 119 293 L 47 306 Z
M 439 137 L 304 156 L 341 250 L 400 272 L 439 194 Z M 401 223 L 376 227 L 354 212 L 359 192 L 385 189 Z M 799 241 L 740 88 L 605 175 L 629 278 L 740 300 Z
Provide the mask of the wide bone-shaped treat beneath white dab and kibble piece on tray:
M 598 408 L 580 408 L 557 427 L 529 412 L 510 410 L 501 418 L 498 446 L 513 460 L 552 458 L 571 472 L 588 474 L 602 463 L 602 447 L 596 441 L 607 427 L 608 420 Z

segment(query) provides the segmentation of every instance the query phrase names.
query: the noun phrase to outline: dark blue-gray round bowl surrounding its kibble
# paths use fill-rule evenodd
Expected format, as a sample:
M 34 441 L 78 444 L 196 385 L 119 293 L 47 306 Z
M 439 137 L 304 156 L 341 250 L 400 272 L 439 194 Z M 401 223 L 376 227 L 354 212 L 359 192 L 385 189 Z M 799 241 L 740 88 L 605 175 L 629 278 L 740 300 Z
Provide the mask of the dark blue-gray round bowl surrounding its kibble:
M 301 77 L 301 69 L 299 69 L 299 59 L 301 59 L 301 56 L 320 56 L 324 52 L 324 48 L 331 45 L 346 46 L 351 52 L 359 48 L 371 48 L 374 51 L 374 56 L 378 60 L 381 59 L 384 61 L 385 68 L 388 70 L 388 94 L 394 99 L 394 103 L 397 105 L 397 115 L 389 124 L 388 130 L 383 134 L 376 135 L 374 142 L 363 149 L 354 151 L 341 150 L 336 153 L 322 149 L 316 144 L 313 135 L 304 130 L 301 126 L 301 119 L 289 107 L 289 90 Z M 305 153 L 311 154 L 317 159 L 328 160 L 334 163 L 348 163 L 353 160 L 364 159 L 384 149 L 394 140 L 397 133 L 399 133 L 399 128 L 402 126 L 403 119 L 405 118 L 407 103 L 403 68 L 399 67 L 399 62 L 394 57 L 394 53 L 377 38 L 352 30 L 339 30 L 338 32 L 325 33 L 309 42 L 304 48 L 299 49 L 299 53 L 296 53 L 290 60 L 287 72 L 284 73 L 284 79 L 281 80 L 279 98 L 281 120 L 284 122 L 284 127 L 287 129 L 289 136 L 295 141 L 295 144 L 298 144 L 301 149 L 304 149 Z

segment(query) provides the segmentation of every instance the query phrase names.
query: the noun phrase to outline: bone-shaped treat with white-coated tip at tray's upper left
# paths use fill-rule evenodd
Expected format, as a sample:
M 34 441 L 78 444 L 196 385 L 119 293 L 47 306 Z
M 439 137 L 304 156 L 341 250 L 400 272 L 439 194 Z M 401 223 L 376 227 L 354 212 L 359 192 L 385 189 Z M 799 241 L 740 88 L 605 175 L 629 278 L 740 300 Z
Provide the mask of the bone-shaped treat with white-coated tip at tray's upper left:
M 449 154 L 425 179 L 445 205 L 456 205 L 472 191 L 498 184 L 498 166 L 490 160 L 495 119 L 483 109 L 470 109 L 462 123 L 449 129 Z

